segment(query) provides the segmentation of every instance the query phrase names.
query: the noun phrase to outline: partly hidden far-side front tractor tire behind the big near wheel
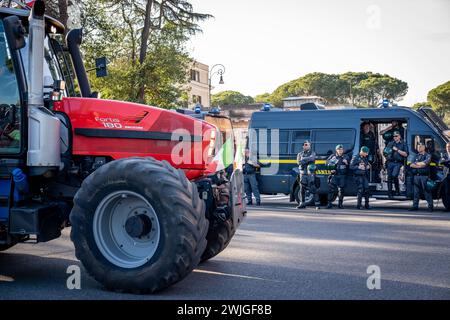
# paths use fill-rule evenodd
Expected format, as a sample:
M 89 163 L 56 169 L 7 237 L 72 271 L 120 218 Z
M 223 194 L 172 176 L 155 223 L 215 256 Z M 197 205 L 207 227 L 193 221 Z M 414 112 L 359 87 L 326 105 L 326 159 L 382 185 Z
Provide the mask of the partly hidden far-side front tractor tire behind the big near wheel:
M 234 236 L 235 229 L 233 222 L 226 220 L 225 222 L 216 222 L 206 236 L 208 245 L 202 255 L 202 262 L 209 260 L 221 253 L 230 243 Z

